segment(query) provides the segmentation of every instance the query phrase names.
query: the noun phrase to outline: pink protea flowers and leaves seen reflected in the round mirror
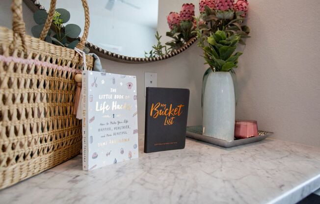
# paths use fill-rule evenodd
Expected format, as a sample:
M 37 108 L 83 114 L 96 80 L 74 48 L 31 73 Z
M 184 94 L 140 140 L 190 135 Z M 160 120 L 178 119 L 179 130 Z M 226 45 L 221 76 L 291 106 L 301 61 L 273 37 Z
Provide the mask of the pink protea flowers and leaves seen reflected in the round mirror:
M 170 12 L 167 16 L 170 31 L 167 32 L 166 35 L 171 37 L 173 40 L 165 44 L 170 46 L 170 51 L 180 49 L 185 43 L 195 36 L 195 34 L 192 33 L 196 27 L 193 16 L 194 5 L 192 3 L 184 3 L 180 14 L 177 12 Z

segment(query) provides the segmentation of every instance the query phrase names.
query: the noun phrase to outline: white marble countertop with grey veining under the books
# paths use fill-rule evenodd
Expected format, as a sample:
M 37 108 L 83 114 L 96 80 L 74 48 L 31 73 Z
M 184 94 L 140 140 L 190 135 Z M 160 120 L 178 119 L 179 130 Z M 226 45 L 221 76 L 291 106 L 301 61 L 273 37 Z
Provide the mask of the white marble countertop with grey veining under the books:
M 224 149 L 187 139 L 184 150 L 146 154 L 140 146 L 140 158 L 91 172 L 77 156 L 0 191 L 0 203 L 291 204 L 319 187 L 319 148 L 267 139 Z

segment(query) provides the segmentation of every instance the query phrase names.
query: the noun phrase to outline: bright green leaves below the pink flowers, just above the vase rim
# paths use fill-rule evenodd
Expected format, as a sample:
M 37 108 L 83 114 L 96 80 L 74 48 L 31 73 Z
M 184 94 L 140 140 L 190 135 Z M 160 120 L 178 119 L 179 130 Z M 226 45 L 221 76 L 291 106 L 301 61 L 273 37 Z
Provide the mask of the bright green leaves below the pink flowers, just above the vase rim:
M 242 52 L 235 52 L 240 40 L 240 34 L 231 35 L 222 30 L 217 30 L 209 37 L 203 36 L 202 30 L 197 30 L 198 46 L 204 51 L 205 64 L 213 72 L 229 72 L 237 68 L 238 58 Z

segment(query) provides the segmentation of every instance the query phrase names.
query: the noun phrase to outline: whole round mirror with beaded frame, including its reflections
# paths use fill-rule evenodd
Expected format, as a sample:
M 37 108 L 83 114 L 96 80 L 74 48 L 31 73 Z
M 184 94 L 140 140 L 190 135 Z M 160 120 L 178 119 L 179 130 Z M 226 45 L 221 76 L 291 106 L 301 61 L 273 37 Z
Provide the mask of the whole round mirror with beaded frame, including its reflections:
M 25 2 L 33 11 L 48 11 L 51 0 Z M 179 54 L 196 40 L 191 32 L 192 16 L 198 15 L 198 5 L 194 8 L 186 0 L 87 0 L 87 3 L 90 29 L 86 47 L 99 56 L 128 63 L 151 62 Z M 55 8 L 70 13 L 63 26 L 78 25 L 81 36 L 84 27 L 81 1 L 57 0 Z M 186 18 L 191 19 L 183 25 L 184 29 L 175 27 L 177 21 Z

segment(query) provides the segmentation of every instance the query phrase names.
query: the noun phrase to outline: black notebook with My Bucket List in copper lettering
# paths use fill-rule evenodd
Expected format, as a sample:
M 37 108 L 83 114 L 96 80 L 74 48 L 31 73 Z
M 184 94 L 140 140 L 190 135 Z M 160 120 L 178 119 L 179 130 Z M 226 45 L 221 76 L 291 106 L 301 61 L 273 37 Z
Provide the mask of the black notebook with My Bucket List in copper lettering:
M 144 152 L 184 149 L 189 90 L 147 87 Z

